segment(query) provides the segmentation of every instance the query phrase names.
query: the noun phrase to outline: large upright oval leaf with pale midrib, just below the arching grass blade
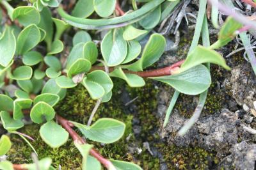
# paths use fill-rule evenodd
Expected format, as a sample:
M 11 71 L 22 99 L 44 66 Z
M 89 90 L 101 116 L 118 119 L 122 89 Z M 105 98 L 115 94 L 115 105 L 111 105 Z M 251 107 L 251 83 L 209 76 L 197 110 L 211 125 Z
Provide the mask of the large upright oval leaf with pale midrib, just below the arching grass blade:
M 104 36 L 100 45 L 102 56 L 108 66 L 120 65 L 127 55 L 127 42 L 123 29 L 114 29 Z

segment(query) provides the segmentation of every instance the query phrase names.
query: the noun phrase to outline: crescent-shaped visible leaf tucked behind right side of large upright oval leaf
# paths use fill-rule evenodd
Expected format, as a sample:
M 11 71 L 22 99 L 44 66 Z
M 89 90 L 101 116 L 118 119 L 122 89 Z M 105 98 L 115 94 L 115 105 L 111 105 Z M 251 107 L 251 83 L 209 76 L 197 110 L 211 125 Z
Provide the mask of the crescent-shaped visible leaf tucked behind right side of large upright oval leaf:
M 122 62 L 122 64 L 129 63 L 130 61 L 136 59 L 141 52 L 141 45 L 136 40 L 132 40 L 128 42 L 128 52 L 125 60 Z

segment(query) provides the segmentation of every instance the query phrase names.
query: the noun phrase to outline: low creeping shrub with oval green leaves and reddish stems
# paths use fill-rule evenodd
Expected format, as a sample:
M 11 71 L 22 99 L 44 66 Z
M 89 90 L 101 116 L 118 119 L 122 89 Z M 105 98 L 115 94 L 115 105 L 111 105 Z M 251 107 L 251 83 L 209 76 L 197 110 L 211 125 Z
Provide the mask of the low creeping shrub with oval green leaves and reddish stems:
M 28 6 L 15 8 L 2 0 L 2 12 L 8 15 L 0 38 L 0 87 L 3 91 L 0 116 L 3 127 L 10 133 L 19 134 L 31 146 L 26 139 L 28 136 L 18 132 L 24 127 L 24 114 L 29 114 L 33 123 L 42 125 L 40 136 L 52 148 L 60 147 L 67 142 L 68 136 L 72 137 L 83 155 L 83 169 L 101 169 L 101 164 L 112 170 L 141 169 L 130 162 L 102 157 L 73 128 L 76 127 L 86 139 L 104 144 L 114 143 L 124 135 L 125 124 L 112 118 L 100 118 L 91 125 L 99 104 L 111 99 L 111 77 L 123 79 L 134 88 L 144 86 L 146 78 L 154 79 L 169 84 L 179 93 L 198 95 L 211 84 L 211 74 L 205 63 L 230 70 L 214 49 L 230 42 L 234 31 L 242 26 L 232 18 L 226 20 L 218 41 L 210 47 L 198 45 L 184 61 L 145 71 L 161 58 L 166 46 L 164 36 L 150 35 L 150 32 L 179 3 L 141 1 L 138 8 L 136 1 L 132 1 L 134 10 L 124 13 L 116 0 L 78 0 L 68 14 L 59 0 L 31 0 Z M 58 8 L 58 15 L 54 15 L 58 19 L 52 17 L 50 8 Z M 90 17 L 93 12 L 98 16 Z M 64 49 L 61 35 L 72 27 L 108 29 L 108 33 L 99 47 L 86 31 L 77 31 L 67 61 L 61 62 L 58 55 Z M 146 35 L 150 38 L 142 49 L 140 40 Z M 47 52 L 40 52 L 38 44 L 44 45 Z M 97 100 L 88 125 L 65 120 L 54 111 L 54 105 L 65 98 L 67 89 L 75 88 L 79 83 L 90 97 Z M 5 88 L 10 84 L 18 87 L 14 95 Z M 6 154 L 11 146 L 9 137 L 2 135 L 0 155 Z M 36 148 L 33 150 L 36 153 Z M 51 161 L 51 158 L 43 158 L 34 164 L 17 165 L 6 160 L 0 162 L 0 169 L 54 169 Z

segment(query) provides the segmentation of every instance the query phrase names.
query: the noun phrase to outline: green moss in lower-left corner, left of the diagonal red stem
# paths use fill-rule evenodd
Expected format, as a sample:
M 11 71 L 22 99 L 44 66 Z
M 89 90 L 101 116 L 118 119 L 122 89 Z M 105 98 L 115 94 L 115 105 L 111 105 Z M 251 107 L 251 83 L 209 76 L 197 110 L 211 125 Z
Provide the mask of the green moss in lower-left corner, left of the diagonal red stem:
M 51 157 L 52 165 L 58 167 L 61 165 L 62 169 L 81 169 L 82 157 L 79 151 L 74 146 L 71 139 L 58 149 L 52 149 L 42 141 L 39 135 L 40 126 L 37 124 L 26 125 L 21 128 L 20 132 L 28 134 L 33 137 L 35 141 L 31 144 L 38 153 L 38 158 Z M 8 160 L 12 160 L 14 164 L 31 163 L 31 153 L 33 150 L 26 144 L 18 135 L 12 135 L 12 148 L 8 152 Z

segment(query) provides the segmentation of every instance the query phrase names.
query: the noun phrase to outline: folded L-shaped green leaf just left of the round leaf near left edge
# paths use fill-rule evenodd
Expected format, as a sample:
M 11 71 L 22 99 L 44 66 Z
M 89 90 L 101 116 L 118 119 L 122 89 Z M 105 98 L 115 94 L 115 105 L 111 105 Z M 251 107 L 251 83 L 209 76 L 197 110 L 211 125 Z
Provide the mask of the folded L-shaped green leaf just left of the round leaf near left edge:
M 30 98 L 17 98 L 14 100 L 13 109 L 13 119 L 20 120 L 24 117 L 22 109 L 30 109 L 32 105 L 32 100 Z

